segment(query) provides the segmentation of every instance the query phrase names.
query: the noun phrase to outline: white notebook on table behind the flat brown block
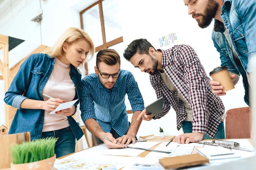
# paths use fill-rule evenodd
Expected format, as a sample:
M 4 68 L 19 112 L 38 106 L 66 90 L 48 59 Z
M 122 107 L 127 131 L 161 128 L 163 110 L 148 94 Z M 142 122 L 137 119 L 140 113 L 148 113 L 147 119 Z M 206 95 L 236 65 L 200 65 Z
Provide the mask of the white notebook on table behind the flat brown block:
M 230 159 L 240 157 L 238 153 L 232 152 L 230 149 L 221 146 L 202 147 L 197 148 L 196 151 L 200 153 L 202 156 L 207 157 L 209 160 Z

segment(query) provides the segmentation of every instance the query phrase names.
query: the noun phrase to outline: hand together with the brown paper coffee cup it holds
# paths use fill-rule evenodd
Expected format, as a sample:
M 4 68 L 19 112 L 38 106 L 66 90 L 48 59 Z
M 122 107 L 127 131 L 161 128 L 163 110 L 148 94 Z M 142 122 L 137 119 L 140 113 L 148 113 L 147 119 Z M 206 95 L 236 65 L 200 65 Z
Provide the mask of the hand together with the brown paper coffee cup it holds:
M 232 79 L 234 79 L 236 75 L 230 75 L 226 66 L 214 68 L 214 70 L 210 72 L 210 76 L 213 79 L 210 81 L 213 94 L 223 96 L 226 95 L 226 91 L 235 88 Z

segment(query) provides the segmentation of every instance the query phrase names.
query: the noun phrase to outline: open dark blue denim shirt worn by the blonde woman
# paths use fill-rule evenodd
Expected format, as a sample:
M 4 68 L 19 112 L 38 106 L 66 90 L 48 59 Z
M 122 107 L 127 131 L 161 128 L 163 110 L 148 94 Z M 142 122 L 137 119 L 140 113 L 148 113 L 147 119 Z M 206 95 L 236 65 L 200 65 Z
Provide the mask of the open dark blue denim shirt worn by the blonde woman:
M 42 91 L 52 74 L 54 63 L 54 57 L 50 57 L 48 54 L 32 54 L 20 66 L 4 98 L 6 104 L 17 108 L 9 134 L 29 131 L 31 140 L 41 139 L 44 110 L 22 109 L 20 105 L 27 98 L 44 100 Z M 78 99 L 81 94 L 81 74 L 73 65 L 70 67 L 70 77 L 76 87 L 75 99 Z M 75 108 L 78 103 L 79 101 L 76 102 Z M 67 116 L 67 118 L 74 136 L 79 140 L 84 134 L 83 131 L 72 116 Z

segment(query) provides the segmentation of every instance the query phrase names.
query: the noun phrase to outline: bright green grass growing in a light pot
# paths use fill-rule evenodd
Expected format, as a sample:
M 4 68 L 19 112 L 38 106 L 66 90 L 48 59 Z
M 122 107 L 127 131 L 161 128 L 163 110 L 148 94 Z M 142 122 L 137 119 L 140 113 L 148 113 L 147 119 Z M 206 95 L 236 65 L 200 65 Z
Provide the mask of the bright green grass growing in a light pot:
M 12 170 L 52 170 L 57 139 L 46 138 L 12 145 Z

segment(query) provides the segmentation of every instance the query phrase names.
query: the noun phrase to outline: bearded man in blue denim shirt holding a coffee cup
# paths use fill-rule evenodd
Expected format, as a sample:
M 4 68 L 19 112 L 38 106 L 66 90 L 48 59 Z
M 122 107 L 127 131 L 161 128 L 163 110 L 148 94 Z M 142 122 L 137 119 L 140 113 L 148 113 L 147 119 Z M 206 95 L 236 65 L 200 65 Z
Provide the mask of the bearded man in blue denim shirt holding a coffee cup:
M 183 0 L 188 13 L 206 28 L 215 20 L 212 40 L 220 53 L 221 66 L 227 66 L 234 85 L 243 77 L 244 101 L 249 105 L 250 77 L 256 59 L 256 0 Z M 211 81 L 212 93 L 219 96 L 223 86 Z

